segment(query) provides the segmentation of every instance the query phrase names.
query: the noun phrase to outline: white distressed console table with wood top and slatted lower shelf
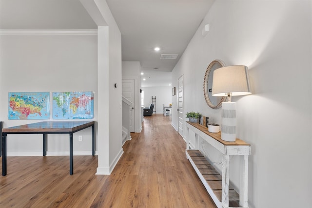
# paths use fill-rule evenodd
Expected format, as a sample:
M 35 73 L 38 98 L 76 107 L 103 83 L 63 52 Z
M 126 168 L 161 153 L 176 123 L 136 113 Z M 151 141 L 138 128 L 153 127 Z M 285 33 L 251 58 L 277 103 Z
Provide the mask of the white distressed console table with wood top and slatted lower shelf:
M 235 142 L 221 140 L 220 133 L 208 132 L 208 128 L 186 121 L 186 156 L 191 162 L 201 182 L 211 195 L 218 208 L 231 207 L 248 208 L 248 155 L 251 154 L 251 146 L 237 139 Z M 196 150 L 190 150 L 190 138 L 195 139 Z M 222 175 L 209 164 L 199 149 L 199 138 L 212 145 L 222 156 Z M 239 194 L 229 185 L 230 155 L 243 157 L 242 170 L 240 170 Z M 239 202 L 238 202 L 239 201 Z M 237 203 L 238 202 L 238 203 Z M 238 205 L 239 204 L 239 205 Z

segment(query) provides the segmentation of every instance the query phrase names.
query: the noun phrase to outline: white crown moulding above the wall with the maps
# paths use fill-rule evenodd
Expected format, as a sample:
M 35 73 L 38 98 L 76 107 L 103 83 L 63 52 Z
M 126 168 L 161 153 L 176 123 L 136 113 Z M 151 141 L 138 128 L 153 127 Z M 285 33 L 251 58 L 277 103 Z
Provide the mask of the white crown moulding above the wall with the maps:
M 0 30 L 1 36 L 97 36 L 97 29 L 90 30 Z

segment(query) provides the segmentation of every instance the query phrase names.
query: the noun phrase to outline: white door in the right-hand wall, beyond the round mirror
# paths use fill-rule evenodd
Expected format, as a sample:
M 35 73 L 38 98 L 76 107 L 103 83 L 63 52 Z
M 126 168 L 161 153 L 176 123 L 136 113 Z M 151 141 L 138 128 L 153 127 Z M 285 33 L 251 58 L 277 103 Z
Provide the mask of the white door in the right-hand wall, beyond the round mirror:
M 178 132 L 183 137 L 183 75 L 177 79 L 177 105 Z

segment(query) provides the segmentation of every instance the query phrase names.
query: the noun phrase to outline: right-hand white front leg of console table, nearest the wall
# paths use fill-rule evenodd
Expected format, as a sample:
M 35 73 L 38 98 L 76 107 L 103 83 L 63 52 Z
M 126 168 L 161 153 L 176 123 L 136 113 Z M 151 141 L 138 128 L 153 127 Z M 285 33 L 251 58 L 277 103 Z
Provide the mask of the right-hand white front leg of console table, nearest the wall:
M 248 155 L 244 155 L 241 160 L 243 165 L 243 172 L 240 174 L 239 186 L 239 206 L 243 208 L 248 207 Z

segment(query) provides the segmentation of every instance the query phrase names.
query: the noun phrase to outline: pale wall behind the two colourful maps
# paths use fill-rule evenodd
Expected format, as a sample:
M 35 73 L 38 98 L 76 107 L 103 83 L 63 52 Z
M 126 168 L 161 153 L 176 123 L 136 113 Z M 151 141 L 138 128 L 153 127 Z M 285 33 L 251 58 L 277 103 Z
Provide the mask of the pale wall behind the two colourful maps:
M 1 35 L 0 120 L 4 127 L 41 120 L 8 120 L 9 92 L 94 91 L 98 119 L 97 34 Z M 52 106 L 52 99 L 50 99 Z M 52 109 L 50 114 L 52 115 Z M 51 116 L 52 118 L 52 116 Z M 83 136 L 78 142 L 78 135 Z M 74 134 L 75 154 L 91 154 L 91 128 Z M 47 154 L 69 151 L 68 134 L 49 134 Z M 42 135 L 8 135 L 8 156 L 42 155 Z

